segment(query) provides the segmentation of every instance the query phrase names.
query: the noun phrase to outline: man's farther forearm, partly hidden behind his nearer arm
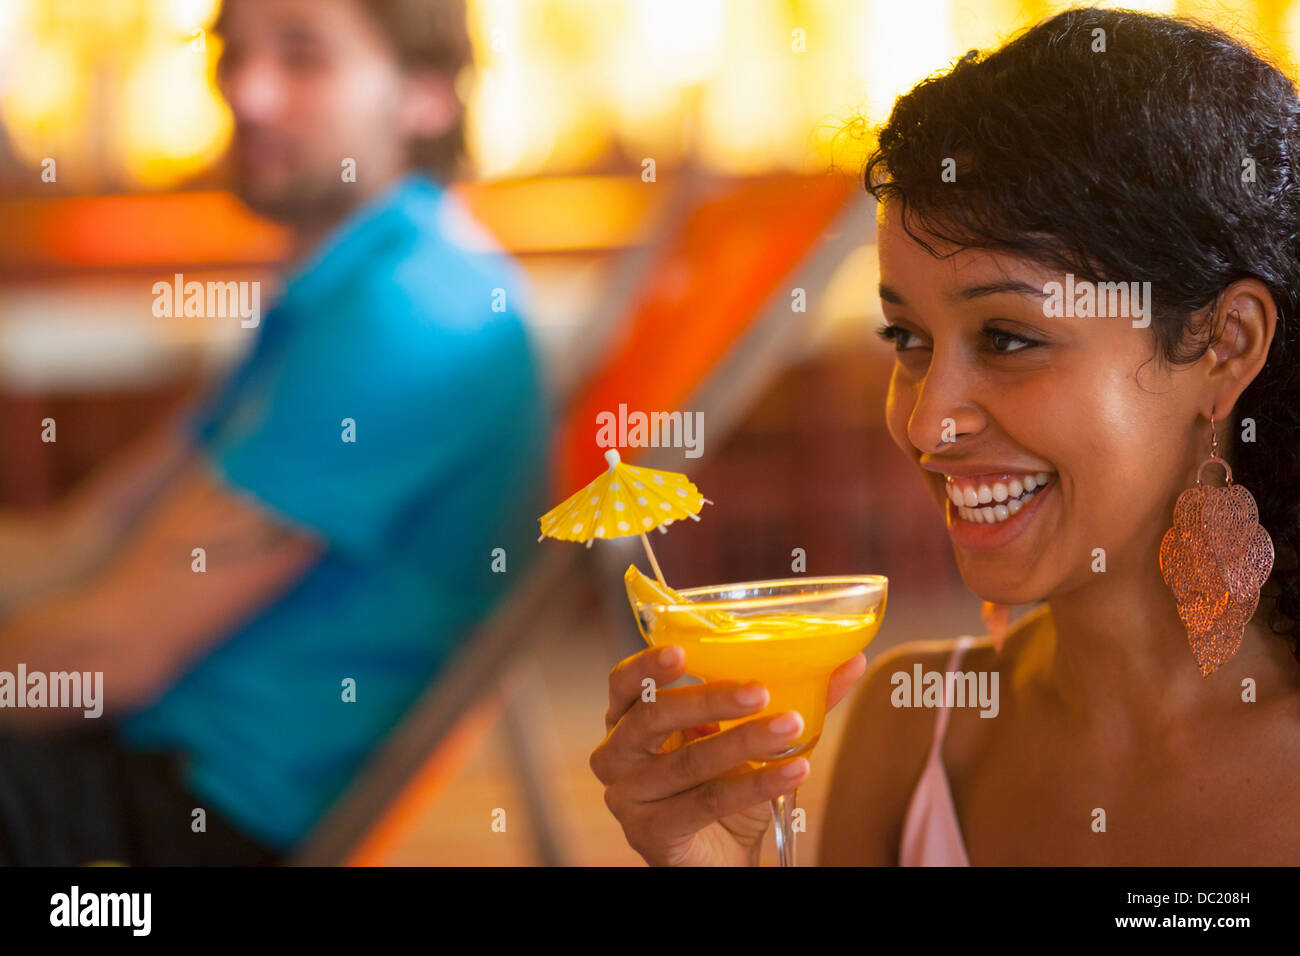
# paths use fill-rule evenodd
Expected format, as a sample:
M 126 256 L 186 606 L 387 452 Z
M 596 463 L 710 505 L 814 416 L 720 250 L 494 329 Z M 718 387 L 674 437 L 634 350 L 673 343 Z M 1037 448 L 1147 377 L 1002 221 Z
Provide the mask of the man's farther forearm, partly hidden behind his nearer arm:
M 0 510 L 0 614 L 96 568 L 192 458 L 170 419 L 122 449 L 52 510 Z

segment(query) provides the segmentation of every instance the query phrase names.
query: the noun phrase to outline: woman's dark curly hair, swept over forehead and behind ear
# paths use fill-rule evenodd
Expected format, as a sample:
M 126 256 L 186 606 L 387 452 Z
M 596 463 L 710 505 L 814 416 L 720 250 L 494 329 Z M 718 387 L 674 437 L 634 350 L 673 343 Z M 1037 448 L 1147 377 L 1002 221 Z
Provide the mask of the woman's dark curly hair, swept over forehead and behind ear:
M 956 181 L 940 176 L 945 157 Z M 1150 281 L 1152 330 L 1171 367 L 1209 349 L 1214 329 L 1196 313 L 1226 285 L 1249 276 L 1269 287 L 1273 346 L 1235 408 L 1239 423 L 1254 420 L 1254 441 L 1238 429 L 1230 457 L 1277 549 L 1269 626 L 1295 637 L 1300 99 L 1291 81 L 1192 20 L 1071 9 L 901 96 L 863 178 L 878 200 L 900 202 L 907 234 L 935 255 L 914 225 L 941 243 L 1092 281 Z

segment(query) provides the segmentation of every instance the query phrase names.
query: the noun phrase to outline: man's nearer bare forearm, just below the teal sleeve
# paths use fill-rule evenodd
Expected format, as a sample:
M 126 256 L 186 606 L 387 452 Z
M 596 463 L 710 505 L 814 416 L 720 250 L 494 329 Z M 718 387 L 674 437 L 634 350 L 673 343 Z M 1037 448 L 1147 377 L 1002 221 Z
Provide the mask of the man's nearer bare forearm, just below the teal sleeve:
M 194 570 L 204 549 L 204 571 Z M 104 713 L 144 705 L 204 650 L 282 594 L 324 545 L 191 464 L 113 561 L 0 620 L 0 671 L 103 671 Z M 20 688 L 22 692 L 22 688 Z M 0 726 L 83 719 L 0 708 Z

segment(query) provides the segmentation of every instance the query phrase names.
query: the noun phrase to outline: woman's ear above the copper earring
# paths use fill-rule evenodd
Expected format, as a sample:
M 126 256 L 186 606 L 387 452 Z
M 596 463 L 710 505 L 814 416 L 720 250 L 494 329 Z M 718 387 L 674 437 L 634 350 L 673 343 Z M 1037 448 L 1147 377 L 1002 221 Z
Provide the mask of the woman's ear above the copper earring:
M 1257 278 L 1242 278 L 1228 285 L 1218 299 L 1214 315 L 1216 337 L 1210 345 L 1209 418 L 1223 421 L 1236 399 L 1264 368 L 1277 330 L 1278 307 L 1273 293 Z

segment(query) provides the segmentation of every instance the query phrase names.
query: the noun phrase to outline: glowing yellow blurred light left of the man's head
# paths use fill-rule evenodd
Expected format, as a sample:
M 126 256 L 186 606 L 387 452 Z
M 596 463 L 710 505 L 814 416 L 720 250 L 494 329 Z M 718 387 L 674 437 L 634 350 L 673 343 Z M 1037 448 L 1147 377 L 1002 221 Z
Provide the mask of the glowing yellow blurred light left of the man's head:
M 218 0 L 4 0 L 0 121 L 13 150 L 74 190 L 166 187 L 230 135 L 207 35 Z

